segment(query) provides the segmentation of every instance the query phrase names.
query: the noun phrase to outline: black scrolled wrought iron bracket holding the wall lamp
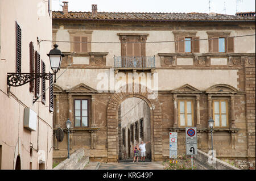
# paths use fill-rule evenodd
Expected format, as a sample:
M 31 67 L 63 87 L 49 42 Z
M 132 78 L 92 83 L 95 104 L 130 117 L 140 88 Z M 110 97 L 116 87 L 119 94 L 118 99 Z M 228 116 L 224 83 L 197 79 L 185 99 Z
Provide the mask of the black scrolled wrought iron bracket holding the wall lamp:
M 9 87 L 23 86 L 28 82 L 34 81 L 36 78 L 45 78 L 49 80 L 51 73 L 7 73 L 7 85 Z

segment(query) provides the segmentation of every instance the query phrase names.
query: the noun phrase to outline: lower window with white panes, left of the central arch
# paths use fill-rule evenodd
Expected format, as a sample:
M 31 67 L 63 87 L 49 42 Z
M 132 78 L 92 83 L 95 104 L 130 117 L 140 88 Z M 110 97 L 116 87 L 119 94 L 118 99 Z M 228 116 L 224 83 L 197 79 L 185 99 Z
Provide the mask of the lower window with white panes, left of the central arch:
M 88 99 L 75 99 L 75 127 L 88 127 Z

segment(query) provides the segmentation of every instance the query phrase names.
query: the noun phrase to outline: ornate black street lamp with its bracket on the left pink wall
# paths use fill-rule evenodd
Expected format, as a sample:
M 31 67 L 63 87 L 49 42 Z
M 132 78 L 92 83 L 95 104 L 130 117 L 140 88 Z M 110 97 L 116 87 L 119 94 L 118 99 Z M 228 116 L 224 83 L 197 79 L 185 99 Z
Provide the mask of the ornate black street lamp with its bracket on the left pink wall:
M 51 69 L 54 74 L 51 73 L 7 73 L 7 85 L 9 87 L 19 87 L 24 84 L 34 81 L 36 78 L 45 78 L 49 80 L 51 75 L 54 75 L 54 82 L 56 82 L 56 73 L 60 70 L 60 64 L 62 57 L 64 54 L 61 53 L 59 49 L 57 49 L 58 45 L 53 45 L 55 48 L 50 50 L 47 54 L 49 56 L 49 61 L 51 64 Z

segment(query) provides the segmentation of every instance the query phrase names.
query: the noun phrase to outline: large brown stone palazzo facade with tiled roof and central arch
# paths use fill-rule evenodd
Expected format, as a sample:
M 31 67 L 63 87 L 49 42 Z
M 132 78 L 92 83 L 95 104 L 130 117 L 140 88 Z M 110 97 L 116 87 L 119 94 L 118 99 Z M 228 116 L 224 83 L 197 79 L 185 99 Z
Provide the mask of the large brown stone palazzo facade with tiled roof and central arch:
M 245 36 L 255 34 L 254 16 L 97 12 L 97 6 L 69 12 L 65 3 L 52 12 L 52 23 L 53 43 L 65 54 L 53 115 L 64 140 L 53 133 L 53 159 L 67 157 L 70 119 L 71 153 L 85 148 L 91 160 L 117 162 L 119 106 L 139 98 L 149 108 L 152 161 L 169 158 L 169 132 L 177 132 L 178 154 L 185 153 L 185 127 L 197 127 L 198 149 L 208 152 L 210 117 L 218 158 L 255 160 L 255 36 Z M 135 126 L 128 134 L 135 136 Z

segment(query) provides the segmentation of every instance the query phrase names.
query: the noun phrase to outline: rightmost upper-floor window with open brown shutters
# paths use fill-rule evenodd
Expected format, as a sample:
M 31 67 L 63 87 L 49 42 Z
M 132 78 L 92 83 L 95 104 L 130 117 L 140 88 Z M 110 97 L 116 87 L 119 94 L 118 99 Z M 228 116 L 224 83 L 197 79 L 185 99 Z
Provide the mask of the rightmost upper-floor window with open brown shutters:
M 207 32 L 210 53 L 233 53 L 234 37 L 231 32 Z

